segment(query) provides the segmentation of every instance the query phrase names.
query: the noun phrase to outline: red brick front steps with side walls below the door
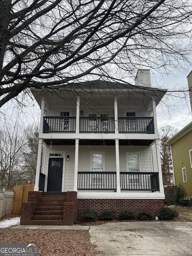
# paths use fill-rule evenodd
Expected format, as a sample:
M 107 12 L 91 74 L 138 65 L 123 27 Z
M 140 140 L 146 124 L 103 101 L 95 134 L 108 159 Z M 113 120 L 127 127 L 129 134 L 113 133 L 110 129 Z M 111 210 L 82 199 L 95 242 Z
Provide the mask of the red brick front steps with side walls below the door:
M 72 225 L 76 221 L 77 196 L 74 191 L 29 191 L 22 203 L 21 225 Z

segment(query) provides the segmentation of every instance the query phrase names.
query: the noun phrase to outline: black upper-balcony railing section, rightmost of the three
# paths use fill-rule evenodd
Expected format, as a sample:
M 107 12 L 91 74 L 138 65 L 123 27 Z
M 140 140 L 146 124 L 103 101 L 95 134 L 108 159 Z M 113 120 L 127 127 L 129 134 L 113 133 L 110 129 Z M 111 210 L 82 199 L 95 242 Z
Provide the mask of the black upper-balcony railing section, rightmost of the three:
M 119 117 L 120 133 L 154 133 L 153 117 Z

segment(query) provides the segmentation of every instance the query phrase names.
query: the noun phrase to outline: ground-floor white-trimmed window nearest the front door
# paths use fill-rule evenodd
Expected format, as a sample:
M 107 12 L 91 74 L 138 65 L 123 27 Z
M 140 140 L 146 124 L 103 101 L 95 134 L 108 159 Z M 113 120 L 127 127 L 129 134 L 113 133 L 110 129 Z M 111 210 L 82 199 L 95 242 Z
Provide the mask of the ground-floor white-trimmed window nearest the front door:
M 91 152 L 91 171 L 103 172 L 104 171 L 104 152 Z M 102 183 L 102 174 L 93 174 L 92 183 Z

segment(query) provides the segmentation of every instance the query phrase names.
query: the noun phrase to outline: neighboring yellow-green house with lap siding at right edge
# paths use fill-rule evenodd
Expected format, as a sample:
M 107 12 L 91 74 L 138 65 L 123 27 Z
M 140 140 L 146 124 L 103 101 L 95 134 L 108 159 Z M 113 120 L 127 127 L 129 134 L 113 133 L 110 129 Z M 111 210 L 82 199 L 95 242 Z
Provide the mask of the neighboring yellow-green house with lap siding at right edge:
M 166 143 L 171 146 L 174 183 L 192 196 L 192 122 Z

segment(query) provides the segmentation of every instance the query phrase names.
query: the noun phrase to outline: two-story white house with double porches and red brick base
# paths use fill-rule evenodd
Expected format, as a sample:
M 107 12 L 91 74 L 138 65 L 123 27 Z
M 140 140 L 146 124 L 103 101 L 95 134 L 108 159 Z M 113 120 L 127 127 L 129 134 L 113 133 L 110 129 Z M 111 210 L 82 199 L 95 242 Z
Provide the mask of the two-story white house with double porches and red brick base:
M 87 208 L 157 214 L 156 107 L 166 90 L 151 87 L 150 70 L 139 70 L 135 85 L 94 80 L 32 93 L 41 107 L 38 162 L 21 224 L 73 224 Z

